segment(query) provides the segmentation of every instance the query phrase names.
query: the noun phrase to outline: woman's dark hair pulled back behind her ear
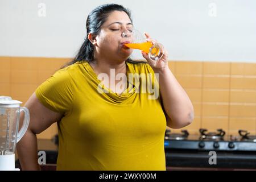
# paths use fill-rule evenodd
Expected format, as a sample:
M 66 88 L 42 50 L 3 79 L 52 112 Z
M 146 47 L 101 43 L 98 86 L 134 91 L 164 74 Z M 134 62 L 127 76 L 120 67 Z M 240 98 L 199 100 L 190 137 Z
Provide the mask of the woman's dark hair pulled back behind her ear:
M 92 33 L 94 35 L 98 35 L 100 33 L 100 29 L 102 24 L 106 22 L 106 19 L 108 18 L 109 14 L 112 13 L 112 11 L 124 11 L 130 18 L 131 22 L 133 20 L 131 19 L 131 12 L 129 9 L 126 9 L 122 5 L 117 4 L 106 4 L 96 7 L 87 17 L 86 20 L 86 38 L 84 40 L 84 43 L 82 43 L 81 48 L 79 49 L 79 52 L 75 56 L 75 59 L 73 59 L 71 62 L 64 65 L 64 67 L 67 67 L 68 65 L 72 65 L 76 63 L 77 61 L 88 61 L 91 62 L 94 60 L 94 47 L 93 44 L 88 39 L 89 33 Z M 129 61 L 131 63 L 135 63 L 137 61 L 133 61 L 130 58 L 128 58 L 126 61 Z

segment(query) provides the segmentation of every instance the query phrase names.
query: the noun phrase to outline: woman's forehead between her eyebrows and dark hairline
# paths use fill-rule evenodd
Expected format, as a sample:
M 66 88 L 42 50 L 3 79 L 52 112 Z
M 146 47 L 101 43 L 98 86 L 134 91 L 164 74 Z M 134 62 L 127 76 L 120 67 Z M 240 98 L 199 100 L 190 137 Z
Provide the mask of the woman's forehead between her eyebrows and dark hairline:
M 125 13 L 125 11 L 113 11 L 109 14 L 104 24 L 108 26 L 109 24 L 114 22 L 121 22 L 123 24 L 127 24 L 131 23 L 131 20 L 129 16 Z

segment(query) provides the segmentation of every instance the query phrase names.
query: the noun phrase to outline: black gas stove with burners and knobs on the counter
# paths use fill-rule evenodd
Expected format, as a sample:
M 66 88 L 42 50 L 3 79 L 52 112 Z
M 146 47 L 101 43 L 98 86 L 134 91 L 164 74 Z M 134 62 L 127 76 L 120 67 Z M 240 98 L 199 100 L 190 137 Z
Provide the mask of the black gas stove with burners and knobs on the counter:
M 239 130 L 238 136 L 226 136 L 222 129 L 207 131 L 200 129 L 199 135 L 189 135 L 187 130 L 181 133 L 166 130 L 164 147 L 200 151 L 256 151 L 256 135 L 250 135 L 245 130 Z

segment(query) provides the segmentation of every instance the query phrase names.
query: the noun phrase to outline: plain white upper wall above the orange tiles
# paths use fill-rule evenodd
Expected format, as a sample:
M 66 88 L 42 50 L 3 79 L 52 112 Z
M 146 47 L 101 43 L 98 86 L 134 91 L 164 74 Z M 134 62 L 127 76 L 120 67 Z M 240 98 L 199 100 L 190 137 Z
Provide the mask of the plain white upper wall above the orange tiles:
M 89 12 L 110 2 L 128 7 L 135 27 L 162 42 L 170 60 L 256 62 L 254 0 L 0 0 L 0 56 L 73 57 Z

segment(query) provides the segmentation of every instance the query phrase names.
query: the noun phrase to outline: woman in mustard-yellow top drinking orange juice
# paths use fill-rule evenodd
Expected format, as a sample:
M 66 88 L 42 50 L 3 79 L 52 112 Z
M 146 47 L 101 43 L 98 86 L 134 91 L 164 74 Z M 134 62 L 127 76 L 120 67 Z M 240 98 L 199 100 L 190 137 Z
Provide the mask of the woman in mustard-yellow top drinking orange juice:
M 133 23 L 120 5 L 94 9 L 86 28 L 75 60 L 40 85 L 25 105 L 30 126 L 17 146 L 22 169 L 40 169 L 36 134 L 57 122 L 59 170 L 165 170 L 166 125 L 179 129 L 193 120 L 191 101 L 168 68 L 167 51 L 157 65 L 144 52 L 148 63 L 128 59 L 131 49 L 123 44 Z M 108 76 L 103 82 L 98 79 L 102 73 Z M 131 73 L 158 73 L 160 97 L 138 92 L 141 83 L 122 81 L 127 86 L 116 89 L 113 74 Z M 108 92 L 99 92 L 99 85 Z

